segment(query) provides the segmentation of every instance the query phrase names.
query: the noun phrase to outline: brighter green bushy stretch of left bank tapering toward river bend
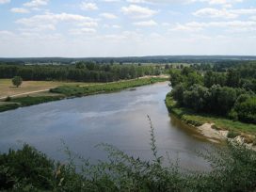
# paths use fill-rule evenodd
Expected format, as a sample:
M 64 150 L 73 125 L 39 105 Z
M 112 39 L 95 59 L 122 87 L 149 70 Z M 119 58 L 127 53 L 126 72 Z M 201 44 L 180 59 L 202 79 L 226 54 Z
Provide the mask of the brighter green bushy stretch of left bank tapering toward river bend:
M 52 88 L 50 91 L 53 93 L 64 94 L 65 96 L 84 96 L 97 93 L 107 93 L 113 91 L 119 91 L 125 88 L 136 88 L 139 86 L 150 85 L 156 82 L 167 81 L 167 78 L 153 77 L 153 78 L 142 78 L 131 81 L 120 81 L 115 83 L 108 83 L 102 85 L 88 86 L 88 87 L 77 87 L 77 86 L 61 86 L 58 88 Z

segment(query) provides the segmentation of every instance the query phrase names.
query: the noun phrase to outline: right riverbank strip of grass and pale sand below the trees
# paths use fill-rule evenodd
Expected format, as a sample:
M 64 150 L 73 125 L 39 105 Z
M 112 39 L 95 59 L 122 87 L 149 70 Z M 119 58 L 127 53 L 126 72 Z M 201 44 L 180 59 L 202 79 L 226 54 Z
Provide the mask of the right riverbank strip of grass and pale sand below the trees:
M 199 132 L 210 141 L 218 142 L 223 139 L 237 140 L 247 143 L 250 147 L 256 146 L 256 125 L 240 121 L 228 120 L 209 114 L 198 114 L 192 110 L 177 106 L 168 93 L 166 97 L 168 111 L 185 123 L 196 127 Z

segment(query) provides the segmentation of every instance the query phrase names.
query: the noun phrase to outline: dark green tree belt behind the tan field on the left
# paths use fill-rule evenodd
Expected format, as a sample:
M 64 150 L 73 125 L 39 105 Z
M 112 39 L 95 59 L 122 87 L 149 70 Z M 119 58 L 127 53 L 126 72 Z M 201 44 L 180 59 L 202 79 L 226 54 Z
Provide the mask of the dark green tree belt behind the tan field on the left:
M 160 74 L 152 65 L 98 65 L 78 62 L 75 65 L 0 65 L 0 78 L 21 76 L 24 80 L 59 80 L 81 82 L 112 82 L 133 79 L 144 75 Z

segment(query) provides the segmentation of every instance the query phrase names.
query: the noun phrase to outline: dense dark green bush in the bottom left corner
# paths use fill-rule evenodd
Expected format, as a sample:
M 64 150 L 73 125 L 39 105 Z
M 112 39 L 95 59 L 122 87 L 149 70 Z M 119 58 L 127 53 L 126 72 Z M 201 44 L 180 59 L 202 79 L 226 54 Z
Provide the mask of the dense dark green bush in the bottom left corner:
M 9 150 L 0 155 L 0 189 L 49 190 L 53 187 L 53 170 L 53 161 L 28 145 L 22 150 Z

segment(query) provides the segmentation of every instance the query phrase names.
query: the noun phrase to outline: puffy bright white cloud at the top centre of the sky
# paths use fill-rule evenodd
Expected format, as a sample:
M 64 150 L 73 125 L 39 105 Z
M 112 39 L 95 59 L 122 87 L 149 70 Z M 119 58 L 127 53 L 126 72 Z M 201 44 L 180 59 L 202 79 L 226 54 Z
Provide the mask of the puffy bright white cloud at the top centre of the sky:
M 121 11 L 133 18 L 147 18 L 152 17 L 157 11 L 151 8 L 144 8 L 136 5 L 130 5 L 128 7 L 122 7 Z

